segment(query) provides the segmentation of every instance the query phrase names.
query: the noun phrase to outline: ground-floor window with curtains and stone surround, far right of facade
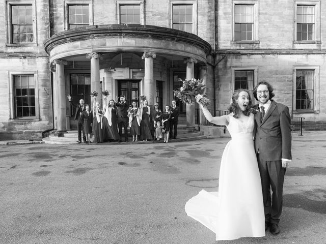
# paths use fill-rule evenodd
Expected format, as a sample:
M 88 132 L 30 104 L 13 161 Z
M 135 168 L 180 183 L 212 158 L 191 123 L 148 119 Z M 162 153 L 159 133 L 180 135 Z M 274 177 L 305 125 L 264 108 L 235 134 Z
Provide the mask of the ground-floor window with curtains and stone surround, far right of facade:
M 319 66 L 294 66 L 293 112 L 319 113 Z

